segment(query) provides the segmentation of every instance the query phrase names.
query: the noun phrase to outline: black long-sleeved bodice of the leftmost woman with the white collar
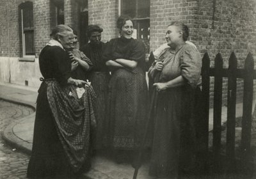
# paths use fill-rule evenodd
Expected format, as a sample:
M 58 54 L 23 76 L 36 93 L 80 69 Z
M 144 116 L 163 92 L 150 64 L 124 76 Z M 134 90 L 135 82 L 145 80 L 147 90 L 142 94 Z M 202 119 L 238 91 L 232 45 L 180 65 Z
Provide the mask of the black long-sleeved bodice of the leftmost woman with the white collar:
M 71 64 L 66 51 L 58 46 L 45 46 L 39 56 L 40 71 L 44 79 L 56 79 L 60 84 L 67 84 L 71 76 Z

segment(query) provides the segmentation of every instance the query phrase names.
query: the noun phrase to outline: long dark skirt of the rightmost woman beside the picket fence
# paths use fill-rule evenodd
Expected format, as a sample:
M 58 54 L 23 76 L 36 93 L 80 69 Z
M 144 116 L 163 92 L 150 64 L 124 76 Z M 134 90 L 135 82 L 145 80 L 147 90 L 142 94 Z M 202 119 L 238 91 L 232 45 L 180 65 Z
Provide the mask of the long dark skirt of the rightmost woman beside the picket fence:
M 168 89 L 157 94 L 150 175 L 177 178 L 179 169 L 189 170 L 193 167 L 193 94 L 193 90 L 186 87 Z

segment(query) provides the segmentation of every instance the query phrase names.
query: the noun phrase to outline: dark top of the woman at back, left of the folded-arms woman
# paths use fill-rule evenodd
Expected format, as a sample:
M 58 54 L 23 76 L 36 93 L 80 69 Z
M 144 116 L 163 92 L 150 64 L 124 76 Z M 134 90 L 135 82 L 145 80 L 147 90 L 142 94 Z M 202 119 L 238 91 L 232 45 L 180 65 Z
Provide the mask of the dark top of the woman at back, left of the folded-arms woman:
M 108 68 L 106 66 L 106 61 L 102 58 L 102 52 L 106 47 L 106 43 L 100 42 L 100 44 L 87 43 L 80 48 L 80 51 L 92 61 L 92 68 L 90 71 L 93 72 L 106 72 Z

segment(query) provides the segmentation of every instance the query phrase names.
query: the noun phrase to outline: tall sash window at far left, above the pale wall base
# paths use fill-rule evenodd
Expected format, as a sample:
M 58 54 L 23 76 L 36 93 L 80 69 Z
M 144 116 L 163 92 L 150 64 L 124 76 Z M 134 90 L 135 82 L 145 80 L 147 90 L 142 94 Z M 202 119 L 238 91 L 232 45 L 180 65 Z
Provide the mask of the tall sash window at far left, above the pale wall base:
M 19 6 L 20 50 L 22 56 L 35 55 L 33 3 L 27 1 Z

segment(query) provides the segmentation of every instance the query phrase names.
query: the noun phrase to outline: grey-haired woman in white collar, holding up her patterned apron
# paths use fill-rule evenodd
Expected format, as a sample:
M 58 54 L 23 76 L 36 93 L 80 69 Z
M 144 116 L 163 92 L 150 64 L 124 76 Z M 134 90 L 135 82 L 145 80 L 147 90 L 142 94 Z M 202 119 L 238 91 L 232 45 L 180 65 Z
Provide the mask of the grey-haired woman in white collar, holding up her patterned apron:
M 39 56 L 44 79 L 38 90 L 28 177 L 76 178 L 81 169 L 90 167 L 93 93 L 85 81 L 70 77 L 71 63 L 64 49 L 72 46 L 72 29 L 58 25 L 51 37 Z M 83 87 L 83 95 L 77 87 Z

